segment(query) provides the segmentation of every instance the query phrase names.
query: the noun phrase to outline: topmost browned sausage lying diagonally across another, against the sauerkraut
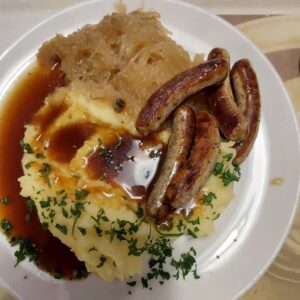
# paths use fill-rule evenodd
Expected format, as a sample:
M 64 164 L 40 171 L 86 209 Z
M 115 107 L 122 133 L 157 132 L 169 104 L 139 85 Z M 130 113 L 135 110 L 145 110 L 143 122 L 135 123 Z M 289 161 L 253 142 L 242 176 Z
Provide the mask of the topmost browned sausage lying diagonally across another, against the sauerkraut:
M 157 130 L 188 96 L 221 83 L 227 73 L 228 63 L 214 59 L 177 74 L 147 100 L 138 115 L 137 130 L 143 135 Z

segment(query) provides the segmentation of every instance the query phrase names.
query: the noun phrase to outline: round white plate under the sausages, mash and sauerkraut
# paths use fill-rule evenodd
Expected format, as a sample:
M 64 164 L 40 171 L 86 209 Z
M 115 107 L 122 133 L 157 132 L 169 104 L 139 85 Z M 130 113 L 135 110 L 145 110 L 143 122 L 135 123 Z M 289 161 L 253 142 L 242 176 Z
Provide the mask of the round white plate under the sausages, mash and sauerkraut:
M 56 33 L 69 33 L 96 23 L 114 10 L 115 1 L 96 1 L 65 10 L 32 29 L 0 57 L 0 99 L 16 77 L 34 60 L 41 44 Z M 141 0 L 125 1 L 129 10 Z M 262 120 L 255 147 L 242 166 L 236 198 L 215 222 L 216 233 L 193 240 L 199 254 L 199 280 L 170 281 L 152 291 L 121 282 L 106 284 L 96 276 L 83 281 L 57 281 L 29 263 L 14 268 L 15 258 L 0 238 L 0 277 L 15 295 L 47 299 L 232 299 L 239 297 L 264 273 L 278 253 L 292 224 L 298 198 L 300 156 L 297 122 L 291 102 L 274 68 L 263 54 L 224 20 L 197 7 L 167 0 L 145 0 L 145 9 L 161 13 L 163 24 L 190 51 L 207 52 L 215 46 L 229 50 L 232 60 L 249 58 L 261 88 Z M 271 186 L 274 177 L 284 184 Z M 234 242 L 237 239 L 237 242 Z M 179 240 L 176 246 L 186 248 Z M 220 256 L 219 259 L 216 256 Z M 28 275 L 24 280 L 24 275 Z

